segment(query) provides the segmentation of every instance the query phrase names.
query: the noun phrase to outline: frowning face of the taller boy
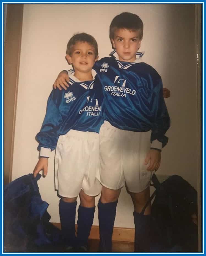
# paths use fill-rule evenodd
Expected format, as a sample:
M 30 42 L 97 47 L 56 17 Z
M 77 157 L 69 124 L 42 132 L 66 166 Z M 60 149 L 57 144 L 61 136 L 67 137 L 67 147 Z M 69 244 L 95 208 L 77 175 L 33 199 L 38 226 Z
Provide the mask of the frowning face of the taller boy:
M 139 39 L 139 30 L 116 29 L 114 39 L 111 39 L 111 41 L 120 61 L 133 62 L 136 60 L 136 52 L 142 41 L 142 39 Z

